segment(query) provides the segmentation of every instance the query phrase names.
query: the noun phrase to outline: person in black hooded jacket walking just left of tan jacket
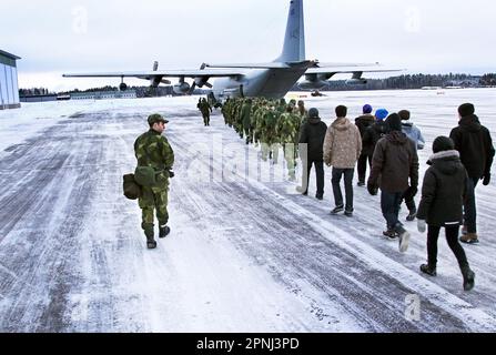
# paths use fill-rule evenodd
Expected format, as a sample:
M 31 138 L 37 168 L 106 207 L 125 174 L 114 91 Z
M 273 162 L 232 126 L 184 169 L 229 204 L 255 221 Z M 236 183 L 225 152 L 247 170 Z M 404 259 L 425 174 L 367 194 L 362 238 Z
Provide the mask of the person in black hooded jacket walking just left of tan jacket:
M 304 178 L 303 194 L 308 194 L 308 181 L 312 165 L 315 165 L 317 178 L 316 199 L 324 199 L 324 139 L 327 125 L 318 116 L 317 109 L 308 110 L 308 119 L 300 131 L 300 151 L 302 161 L 306 162 L 306 176 Z M 303 166 L 305 169 L 305 166 Z

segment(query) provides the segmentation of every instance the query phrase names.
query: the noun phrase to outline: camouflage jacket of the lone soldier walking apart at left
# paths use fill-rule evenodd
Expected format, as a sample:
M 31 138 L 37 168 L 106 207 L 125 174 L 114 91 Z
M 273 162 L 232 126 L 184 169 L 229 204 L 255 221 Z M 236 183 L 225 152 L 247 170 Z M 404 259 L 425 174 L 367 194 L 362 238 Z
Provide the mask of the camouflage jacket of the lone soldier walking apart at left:
M 152 166 L 156 171 L 163 171 L 174 165 L 174 152 L 168 139 L 154 130 L 136 139 L 134 154 L 139 166 Z

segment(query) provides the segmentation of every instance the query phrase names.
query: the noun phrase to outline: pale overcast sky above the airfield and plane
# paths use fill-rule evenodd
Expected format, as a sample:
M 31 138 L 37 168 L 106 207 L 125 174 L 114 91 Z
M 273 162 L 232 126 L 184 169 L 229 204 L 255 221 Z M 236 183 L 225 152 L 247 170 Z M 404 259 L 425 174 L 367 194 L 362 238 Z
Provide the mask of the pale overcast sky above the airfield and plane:
M 266 62 L 290 0 L 1 0 L 0 49 L 22 57 L 21 88 L 117 84 L 63 72 Z M 496 71 L 490 0 L 305 0 L 306 57 L 381 62 L 406 73 Z M 128 81 L 145 83 L 144 81 Z

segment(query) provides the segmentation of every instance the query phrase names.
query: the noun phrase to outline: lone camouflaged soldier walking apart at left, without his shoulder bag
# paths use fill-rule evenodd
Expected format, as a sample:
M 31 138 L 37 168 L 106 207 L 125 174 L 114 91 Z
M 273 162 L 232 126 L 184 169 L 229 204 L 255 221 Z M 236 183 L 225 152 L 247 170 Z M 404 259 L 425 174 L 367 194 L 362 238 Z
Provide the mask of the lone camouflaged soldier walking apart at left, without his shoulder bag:
M 165 123 L 169 123 L 162 115 L 155 113 L 149 116 L 150 131 L 140 135 L 134 142 L 134 154 L 138 159 L 138 166 L 152 166 L 155 171 L 156 183 L 153 186 L 142 186 L 142 196 L 139 205 L 142 210 L 142 229 L 146 236 L 148 248 L 155 248 L 154 240 L 154 210 L 159 220 L 159 237 L 169 235 L 171 229 L 168 213 L 169 179 L 174 176 L 172 166 L 174 164 L 174 152 L 165 136 Z

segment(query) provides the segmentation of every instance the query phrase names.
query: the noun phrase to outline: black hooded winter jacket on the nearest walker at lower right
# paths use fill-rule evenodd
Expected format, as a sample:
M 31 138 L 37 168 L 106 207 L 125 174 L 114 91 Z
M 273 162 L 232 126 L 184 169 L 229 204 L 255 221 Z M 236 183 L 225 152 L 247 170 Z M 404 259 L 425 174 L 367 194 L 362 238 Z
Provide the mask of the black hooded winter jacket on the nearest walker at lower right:
M 429 160 L 422 187 L 417 219 L 434 226 L 460 225 L 467 172 L 457 151 L 444 151 Z

